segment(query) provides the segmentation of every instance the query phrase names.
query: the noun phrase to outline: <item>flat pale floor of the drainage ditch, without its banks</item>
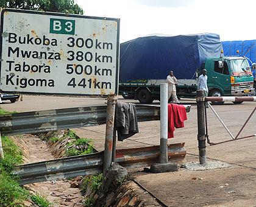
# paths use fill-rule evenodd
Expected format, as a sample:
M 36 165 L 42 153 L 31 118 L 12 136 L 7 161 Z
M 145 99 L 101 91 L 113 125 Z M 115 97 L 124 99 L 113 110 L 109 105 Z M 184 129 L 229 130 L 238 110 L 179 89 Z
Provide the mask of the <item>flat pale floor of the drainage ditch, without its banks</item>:
M 15 136 L 13 140 L 23 150 L 24 164 L 55 158 L 46 142 L 42 141 L 38 136 Z M 78 188 L 70 187 L 72 183 L 72 180 L 54 180 L 26 184 L 24 187 L 29 189 L 31 194 L 38 193 L 46 197 L 52 203 L 52 206 L 84 206 L 82 194 Z

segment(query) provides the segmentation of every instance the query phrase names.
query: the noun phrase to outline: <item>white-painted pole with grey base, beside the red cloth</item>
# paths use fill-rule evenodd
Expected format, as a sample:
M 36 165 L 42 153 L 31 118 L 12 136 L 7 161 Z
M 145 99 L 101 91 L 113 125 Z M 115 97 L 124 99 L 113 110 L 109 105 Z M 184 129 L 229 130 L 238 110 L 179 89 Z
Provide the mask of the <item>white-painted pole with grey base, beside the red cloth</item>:
M 168 163 L 168 83 L 160 84 L 160 163 Z

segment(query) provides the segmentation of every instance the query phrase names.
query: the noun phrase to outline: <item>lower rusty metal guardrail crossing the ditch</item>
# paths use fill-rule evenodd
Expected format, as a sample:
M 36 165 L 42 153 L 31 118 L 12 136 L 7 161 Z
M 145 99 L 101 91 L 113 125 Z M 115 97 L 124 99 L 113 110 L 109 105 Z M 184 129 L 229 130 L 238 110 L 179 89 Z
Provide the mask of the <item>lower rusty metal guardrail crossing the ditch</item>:
M 186 155 L 185 142 L 168 145 L 170 161 L 181 162 Z M 116 163 L 124 167 L 143 167 L 159 159 L 159 147 L 141 147 L 116 150 Z M 103 170 L 104 151 L 89 155 L 70 156 L 55 160 L 41 161 L 15 166 L 13 175 L 20 178 L 20 184 L 58 180 L 79 175 L 93 175 Z

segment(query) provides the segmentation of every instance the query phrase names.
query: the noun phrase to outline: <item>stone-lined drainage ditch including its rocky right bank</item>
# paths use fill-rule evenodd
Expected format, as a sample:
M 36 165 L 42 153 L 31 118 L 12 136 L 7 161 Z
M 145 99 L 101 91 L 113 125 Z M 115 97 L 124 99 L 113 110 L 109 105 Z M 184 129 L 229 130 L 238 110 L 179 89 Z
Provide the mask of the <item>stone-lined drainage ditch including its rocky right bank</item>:
M 67 146 L 72 147 L 70 139 L 63 138 L 65 130 L 59 132 L 40 133 L 38 135 L 14 136 L 13 141 L 23 150 L 24 164 L 38 161 L 52 160 L 65 156 Z M 49 138 L 54 139 L 49 141 Z M 40 137 L 40 138 L 39 138 Z M 48 141 L 46 141 L 48 140 Z M 148 192 L 141 189 L 131 180 L 119 183 L 112 189 L 108 185 L 107 191 L 92 190 L 91 186 L 84 187 L 82 177 L 71 180 L 54 180 L 41 183 L 26 184 L 24 187 L 30 194 L 39 194 L 45 197 L 52 206 L 160 206 Z M 83 189 L 83 195 L 79 187 Z M 106 188 L 103 186 L 102 189 Z M 110 190 L 111 188 L 111 190 Z M 90 201 L 90 203 L 88 203 Z M 24 206 L 33 206 L 26 202 Z

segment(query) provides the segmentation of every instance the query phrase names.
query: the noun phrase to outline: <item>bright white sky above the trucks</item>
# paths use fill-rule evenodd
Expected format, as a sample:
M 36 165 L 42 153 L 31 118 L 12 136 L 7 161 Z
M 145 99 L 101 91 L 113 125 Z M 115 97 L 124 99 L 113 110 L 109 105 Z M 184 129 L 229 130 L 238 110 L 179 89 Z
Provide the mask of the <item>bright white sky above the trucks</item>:
M 120 18 L 120 42 L 153 33 L 256 39 L 255 0 L 75 0 L 84 15 Z

